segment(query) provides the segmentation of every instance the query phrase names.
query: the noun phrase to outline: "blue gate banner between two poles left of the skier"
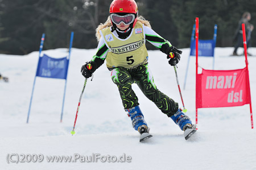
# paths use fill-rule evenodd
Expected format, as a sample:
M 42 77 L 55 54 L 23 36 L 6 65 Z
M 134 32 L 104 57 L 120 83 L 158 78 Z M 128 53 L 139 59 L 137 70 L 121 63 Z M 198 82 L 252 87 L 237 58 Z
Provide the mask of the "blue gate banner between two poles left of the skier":
M 53 59 L 47 55 L 39 57 L 38 70 L 36 76 L 47 78 L 67 79 L 69 60 L 67 57 Z

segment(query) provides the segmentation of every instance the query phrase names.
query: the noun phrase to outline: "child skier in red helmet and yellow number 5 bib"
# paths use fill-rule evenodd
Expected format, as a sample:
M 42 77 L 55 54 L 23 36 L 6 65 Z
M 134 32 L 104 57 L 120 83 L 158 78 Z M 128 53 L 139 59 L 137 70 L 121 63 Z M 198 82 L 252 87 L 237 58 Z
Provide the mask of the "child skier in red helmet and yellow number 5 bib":
M 92 60 L 82 65 L 81 73 L 85 78 L 99 68 L 106 60 L 114 84 L 117 85 L 123 107 L 131 118 L 133 127 L 140 134 L 147 133 L 149 128 L 141 109 L 138 98 L 131 88 L 136 83 L 144 95 L 181 130 L 194 129 L 191 119 L 179 109 L 178 103 L 160 92 L 149 71 L 146 40 L 167 54 L 168 63 L 175 66 L 181 51 L 163 39 L 151 29 L 150 23 L 138 16 L 137 3 L 134 0 L 114 0 L 110 5 L 110 15 L 104 24 L 96 29 L 98 48 Z M 151 135 L 147 135 L 151 137 Z

